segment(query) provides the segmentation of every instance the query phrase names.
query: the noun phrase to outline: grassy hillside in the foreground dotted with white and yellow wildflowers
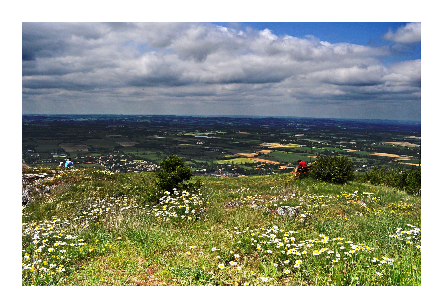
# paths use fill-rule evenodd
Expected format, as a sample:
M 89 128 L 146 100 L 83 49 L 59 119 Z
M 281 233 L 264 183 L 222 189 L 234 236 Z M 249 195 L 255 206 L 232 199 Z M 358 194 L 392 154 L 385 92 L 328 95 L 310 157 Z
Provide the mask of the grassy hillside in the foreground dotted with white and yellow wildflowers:
M 146 202 L 152 173 L 58 175 L 23 208 L 23 285 L 421 283 L 419 197 L 290 174 L 201 179 L 200 191 L 155 204 Z

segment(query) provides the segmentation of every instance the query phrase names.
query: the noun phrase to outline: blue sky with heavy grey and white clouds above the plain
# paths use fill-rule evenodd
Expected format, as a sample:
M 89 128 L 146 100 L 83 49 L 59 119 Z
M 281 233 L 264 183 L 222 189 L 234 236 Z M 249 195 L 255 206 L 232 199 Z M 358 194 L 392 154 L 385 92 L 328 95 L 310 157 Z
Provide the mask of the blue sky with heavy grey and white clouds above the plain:
M 420 120 L 420 23 L 23 23 L 23 114 Z

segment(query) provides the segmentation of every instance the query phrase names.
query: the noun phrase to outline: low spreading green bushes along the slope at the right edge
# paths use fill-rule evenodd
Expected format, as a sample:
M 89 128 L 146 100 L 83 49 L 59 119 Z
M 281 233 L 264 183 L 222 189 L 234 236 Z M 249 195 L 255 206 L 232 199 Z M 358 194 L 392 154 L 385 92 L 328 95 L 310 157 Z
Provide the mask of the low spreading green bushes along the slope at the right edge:
M 356 181 L 372 185 L 385 184 L 406 191 L 411 195 L 421 194 L 421 168 L 414 166 L 409 171 L 403 171 L 404 165 L 399 164 L 396 168 L 378 168 L 373 171 L 358 175 Z

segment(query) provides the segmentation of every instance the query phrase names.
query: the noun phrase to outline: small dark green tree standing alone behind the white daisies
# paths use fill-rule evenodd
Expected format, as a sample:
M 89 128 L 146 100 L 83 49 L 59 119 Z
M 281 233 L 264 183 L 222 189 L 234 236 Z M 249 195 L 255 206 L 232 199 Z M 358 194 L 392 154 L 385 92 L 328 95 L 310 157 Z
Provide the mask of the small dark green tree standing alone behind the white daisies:
M 155 172 L 157 189 L 172 191 L 178 188 L 179 184 L 191 178 L 192 173 L 179 156 L 171 154 L 160 163 L 160 171 Z

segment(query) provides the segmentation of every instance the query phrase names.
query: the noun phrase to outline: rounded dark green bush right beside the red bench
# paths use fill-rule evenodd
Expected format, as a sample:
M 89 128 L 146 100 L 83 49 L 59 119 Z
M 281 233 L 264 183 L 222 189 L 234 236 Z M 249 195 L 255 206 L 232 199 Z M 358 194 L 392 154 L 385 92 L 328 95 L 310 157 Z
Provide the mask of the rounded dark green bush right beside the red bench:
M 348 156 L 319 157 L 311 164 L 311 174 L 315 179 L 327 183 L 344 184 L 354 179 L 354 163 Z

